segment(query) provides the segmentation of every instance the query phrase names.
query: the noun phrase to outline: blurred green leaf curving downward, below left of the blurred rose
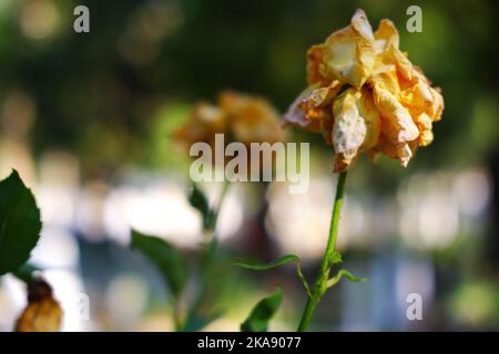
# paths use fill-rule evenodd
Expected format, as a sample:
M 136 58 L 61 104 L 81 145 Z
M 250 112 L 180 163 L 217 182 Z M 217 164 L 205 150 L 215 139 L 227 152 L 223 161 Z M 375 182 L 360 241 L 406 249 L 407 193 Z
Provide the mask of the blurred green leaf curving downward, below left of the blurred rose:
M 132 230 L 132 248 L 139 250 L 156 266 L 176 298 L 189 277 L 189 267 L 183 254 L 165 240 L 135 230 Z

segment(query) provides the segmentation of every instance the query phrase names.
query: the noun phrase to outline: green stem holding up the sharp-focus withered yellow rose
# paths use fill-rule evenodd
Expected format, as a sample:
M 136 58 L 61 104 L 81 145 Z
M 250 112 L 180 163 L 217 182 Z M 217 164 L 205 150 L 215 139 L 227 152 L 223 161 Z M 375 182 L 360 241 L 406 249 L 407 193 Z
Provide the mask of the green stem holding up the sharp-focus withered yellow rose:
M 346 171 L 339 174 L 338 185 L 336 188 L 335 204 L 333 207 L 333 215 L 329 226 L 329 238 L 327 240 L 326 251 L 324 252 L 323 263 L 320 266 L 319 275 L 315 282 L 312 295 L 308 296 L 307 304 L 299 321 L 298 332 L 304 332 L 308 329 L 312 317 L 314 316 L 315 309 L 320 301 L 320 298 L 327 291 L 327 280 L 329 279 L 330 267 L 333 266 L 330 260 L 333 259 L 336 238 L 338 235 L 339 214 L 342 211 L 343 197 L 345 195 L 345 181 Z

